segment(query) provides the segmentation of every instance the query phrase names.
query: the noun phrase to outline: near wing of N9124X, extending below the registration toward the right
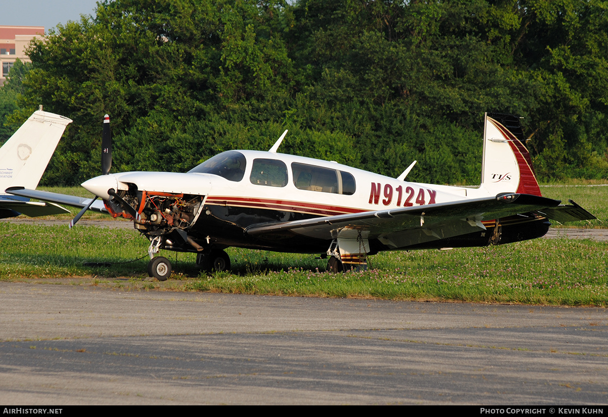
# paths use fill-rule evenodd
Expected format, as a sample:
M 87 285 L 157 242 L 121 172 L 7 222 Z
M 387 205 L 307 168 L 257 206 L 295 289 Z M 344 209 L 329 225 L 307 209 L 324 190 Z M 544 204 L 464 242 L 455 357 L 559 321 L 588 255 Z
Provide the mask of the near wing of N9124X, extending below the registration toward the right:
M 529 194 L 505 194 L 424 206 L 365 211 L 284 223 L 252 225 L 246 233 L 260 239 L 300 234 L 317 239 L 387 239 L 395 247 L 485 230 L 483 221 L 538 211 L 553 216 L 559 200 Z M 567 206 L 566 206 L 567 207 Z M 570 206 L 572 207 L 572 206 Z M 551 208 L 551 210 L 548 210 Z M 560 211 L 561 212 L 561 211 Z M 589 213 L 587 213 L 589 214 Z M 590 219 L 595 219 L 589 214 Z M 580 219 L 576 219 L 580 220 Z

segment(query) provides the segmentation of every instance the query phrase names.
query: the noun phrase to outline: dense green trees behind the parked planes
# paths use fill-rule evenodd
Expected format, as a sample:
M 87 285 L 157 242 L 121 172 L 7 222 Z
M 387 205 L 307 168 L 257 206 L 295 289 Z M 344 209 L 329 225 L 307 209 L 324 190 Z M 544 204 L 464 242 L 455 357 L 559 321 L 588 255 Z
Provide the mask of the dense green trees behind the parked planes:
M 229 149 L 478 184 L 483 113 L 523 117 L 541 180 L 607 178 L 608 2 L 103 0 L 34 40 L 0 141 L 39 104 L 74 120 L 43 184 L 185 171 Z M 12 70 L 12 71 L 13 71 Z

